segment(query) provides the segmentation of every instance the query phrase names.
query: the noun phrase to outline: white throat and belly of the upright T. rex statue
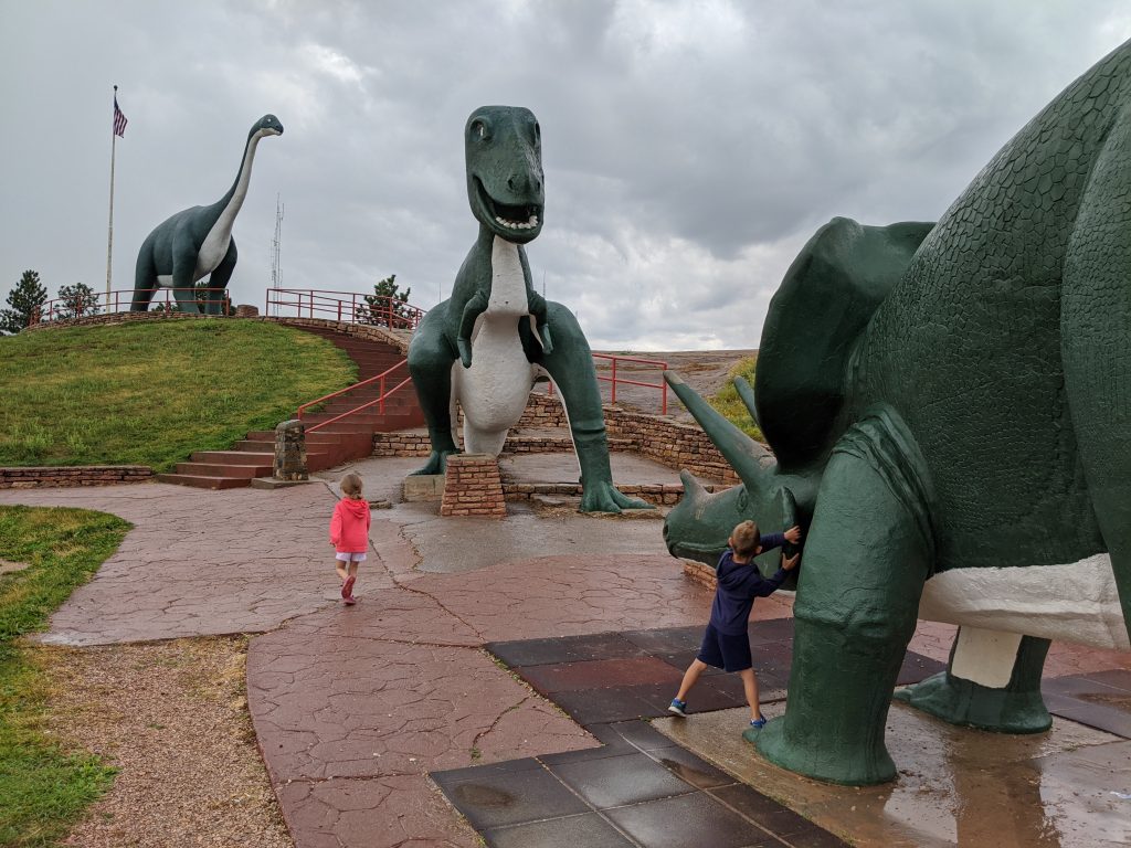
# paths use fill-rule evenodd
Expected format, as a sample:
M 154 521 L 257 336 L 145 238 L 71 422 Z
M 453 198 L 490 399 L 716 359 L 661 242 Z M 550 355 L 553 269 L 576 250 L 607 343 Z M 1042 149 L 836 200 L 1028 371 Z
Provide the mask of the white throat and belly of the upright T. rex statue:
M 464 409 L 464 449 L 498 455 L 507 431 L 526 409 L 535 367 L 518 335 L 519 319 L 529 314 L 529 304 L 515 244 L 495 237 L 491 276 L 487 309 L 472 334 L 472 366 L 455 364 L 452 390 Z

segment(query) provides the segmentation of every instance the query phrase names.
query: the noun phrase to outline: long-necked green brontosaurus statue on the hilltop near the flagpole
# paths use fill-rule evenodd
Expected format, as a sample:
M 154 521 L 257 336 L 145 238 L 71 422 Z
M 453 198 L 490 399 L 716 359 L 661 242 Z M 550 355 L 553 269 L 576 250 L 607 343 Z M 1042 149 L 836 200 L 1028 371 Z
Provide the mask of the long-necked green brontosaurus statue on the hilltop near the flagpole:
M 206 311 L 221 310 L 224 288 L 235 268 L 235 240 L 232 224 L 248 194 L 251 163 L 256 147 L 265 136 L 282 136 L 283 124 L 275 115 L 264 115 L 248 133 L 235 182 L 211 206 L 193 206 L 166 218 L 141 242 L 133 275 L 133 312 L 144 312 L 158 286 L 172 287 L 184 312 L 199 312 L 192 285 L 209 274 Z

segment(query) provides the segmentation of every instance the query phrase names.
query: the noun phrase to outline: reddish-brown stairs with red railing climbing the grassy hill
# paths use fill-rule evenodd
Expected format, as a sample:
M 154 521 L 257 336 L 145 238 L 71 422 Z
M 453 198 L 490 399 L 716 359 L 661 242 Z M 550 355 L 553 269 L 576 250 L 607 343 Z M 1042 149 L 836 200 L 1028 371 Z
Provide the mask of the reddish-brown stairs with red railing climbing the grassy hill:
M 357 380 L 363 381 L 388 371 L 404 355 L 391 345 L 355 338 L 327 328 L 296 327 L 331 341 L 357 363 Z M 395 371 L 386 381 L 386 390 L 408 377 L 407 367 Z M 379 397 L 379 386 L 365 386 L 339 395 L 313 413 L 302 416 L 308 427 L 330 421 L 343 413 Z M 311 471 L 361 459 L 373 452 L 373 433 L 418 427 L 424 413 L 416 401 L 416 391 L 405 386 L 379 406 L 351 415 L 339 422 L 307 433 L 307 465 Z M 232 445 L 231 450 L 197 451 L 188 462 L 179 462 L 175 474 L 158 474 L 163 483 L 178 483 L 200 488 L 236 488 L 250 485 L 256 477 L 269 477 L 275 460 L 275 431 L 257 430 Z

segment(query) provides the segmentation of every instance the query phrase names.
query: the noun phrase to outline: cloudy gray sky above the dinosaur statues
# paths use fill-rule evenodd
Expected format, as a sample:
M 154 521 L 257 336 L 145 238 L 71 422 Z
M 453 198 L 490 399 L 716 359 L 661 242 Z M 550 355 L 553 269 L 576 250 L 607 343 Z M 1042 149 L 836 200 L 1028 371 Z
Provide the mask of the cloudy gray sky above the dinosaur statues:
M 542 124 L 535 284 L 597 348 L 753 347 L 834 215 L 933 220 L 1009 137 L 1131 37 L 1125 0 L 0 0 L 0 297 L 114 288 L 170 214 L 218 199 L 248 129 L 232 291 L 261 304 L 276 196 L 284 285 L 434 305 L 475 237 L 463 127 Z

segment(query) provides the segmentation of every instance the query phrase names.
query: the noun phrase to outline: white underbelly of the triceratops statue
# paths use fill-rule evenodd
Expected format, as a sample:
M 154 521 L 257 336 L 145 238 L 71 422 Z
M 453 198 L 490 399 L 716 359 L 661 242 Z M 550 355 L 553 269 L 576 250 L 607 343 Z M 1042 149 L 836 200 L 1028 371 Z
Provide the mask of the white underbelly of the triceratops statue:
M 1097 648 L 1131 648 L 1112 561 L 953 569 L 926 581 L 920 617 Z

